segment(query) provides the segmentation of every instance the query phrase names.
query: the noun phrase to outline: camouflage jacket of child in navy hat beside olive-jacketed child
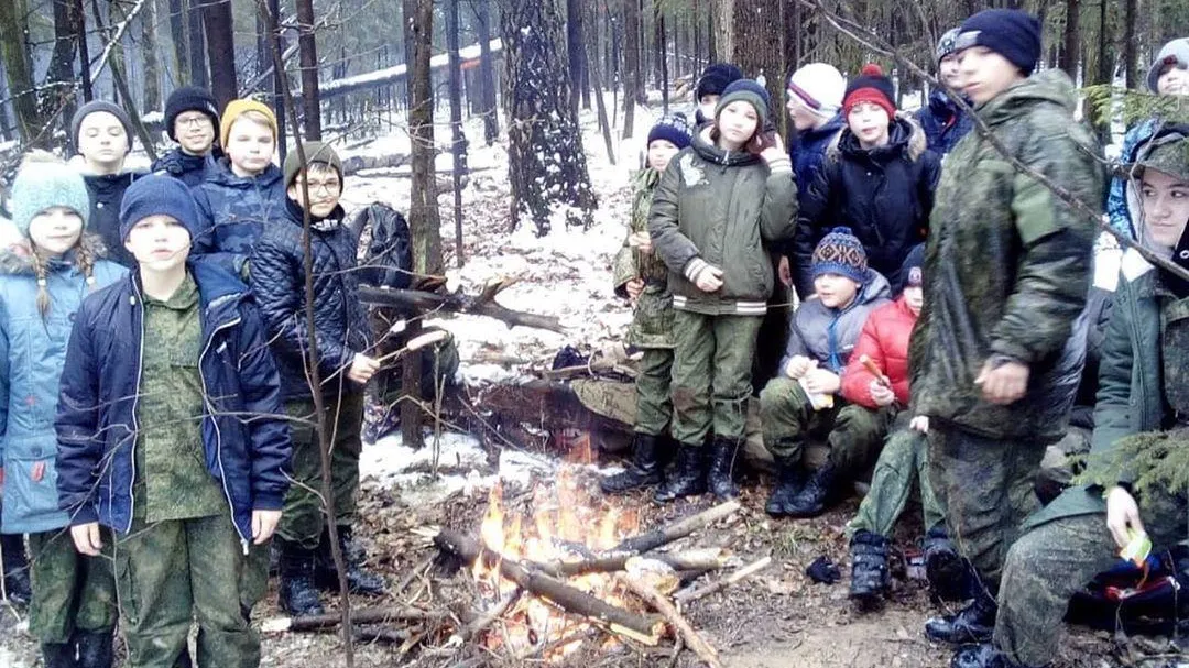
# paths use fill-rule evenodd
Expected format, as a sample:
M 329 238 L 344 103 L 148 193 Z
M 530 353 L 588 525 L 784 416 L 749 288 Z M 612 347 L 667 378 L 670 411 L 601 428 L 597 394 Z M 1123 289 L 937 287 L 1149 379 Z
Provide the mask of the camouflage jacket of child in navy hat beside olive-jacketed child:
M 668 267 L 656 253 L 641 253 L 628 245 L 633 234 L 648 231 L 648 209 L 660 179 L 661 172 L 650 168 L 636 176 L 628 235 L 615 256 L 612 278 L 616 295 L 627 298 L 628 282 L 635 278 L 644 281 L 644 291 L 636 300 L 628 332 L 628 342 L 641 348 L 673 347 L 673 292 L 668 289 Z

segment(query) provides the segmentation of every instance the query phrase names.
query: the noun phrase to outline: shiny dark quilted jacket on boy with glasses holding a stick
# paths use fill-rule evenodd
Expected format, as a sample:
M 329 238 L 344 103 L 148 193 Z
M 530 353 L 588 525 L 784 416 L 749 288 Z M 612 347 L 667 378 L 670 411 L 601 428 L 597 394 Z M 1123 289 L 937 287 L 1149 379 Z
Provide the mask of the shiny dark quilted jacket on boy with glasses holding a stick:
M 251 285 L 269 329 L 272 352 L 281 370 L 284 398 L 312 396 L 306 379 L 309 336 L 306 328 L 306 272 L 302 251 L 302 210 L 285 200 L 285 218 L 264 226 L 252 250 Z M 346 378 L 356 353 L 369 351 L 367 314 L 357 292 L 358 240 L 344 226 L 342 209 L 319 221 L 312 231 L 314 254 L 314 324 L 323 395 L 360 391 Z M 322 228 L 322 229 L 319 229 Z

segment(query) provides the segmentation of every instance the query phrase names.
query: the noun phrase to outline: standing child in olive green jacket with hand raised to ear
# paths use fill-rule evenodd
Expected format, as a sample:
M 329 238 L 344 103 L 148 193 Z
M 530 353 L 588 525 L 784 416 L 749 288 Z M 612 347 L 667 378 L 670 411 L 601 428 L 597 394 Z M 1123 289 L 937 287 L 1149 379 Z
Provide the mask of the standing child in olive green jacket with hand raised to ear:
M 768 92 L 740 80 L 713 122 L 661 175 L 648 233 L 673 292 L 673 437 L 677 464 L 655 499 L 734 497 L 756 334 L 772 295 L 766 245 L 792 234 L 797 185 L 780 136 L 766 132 Z M 709 473 L 705 440 L 713 427 Z

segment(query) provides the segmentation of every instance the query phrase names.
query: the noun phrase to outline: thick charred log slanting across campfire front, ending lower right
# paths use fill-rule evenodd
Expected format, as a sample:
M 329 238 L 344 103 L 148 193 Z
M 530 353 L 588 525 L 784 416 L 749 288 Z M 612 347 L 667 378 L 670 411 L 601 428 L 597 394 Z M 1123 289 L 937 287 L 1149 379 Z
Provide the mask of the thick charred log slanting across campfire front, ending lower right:
M 648 645 L 655 645 L 660 639 L 663 623 L 659 619 L 616 607 L 551 575 L 534 572 L 512 559 L 485 549 L 474 538 L 442 529 L 434 537 L 434 546 L 446 554 L 461 559 L 467 565 L 472 565 L 479 559 L 496 562 L 501 574 L 524 591 L 553 601 L 566 612 L 597 622 L 616 634 L 622 634 Z

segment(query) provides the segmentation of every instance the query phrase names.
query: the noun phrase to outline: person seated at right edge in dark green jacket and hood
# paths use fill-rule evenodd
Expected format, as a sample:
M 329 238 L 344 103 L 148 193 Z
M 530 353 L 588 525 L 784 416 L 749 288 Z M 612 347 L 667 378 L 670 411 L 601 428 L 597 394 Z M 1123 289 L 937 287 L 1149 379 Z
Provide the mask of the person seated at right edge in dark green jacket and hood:
M 1144 215 L 1134 218 L 1139 242 L 1189 267 L 1189 126 L 1158 132 L 1137 162 L 1130 188 L 1144 189 Z M 1153 468 L 1183 467 L 1189 447 L 1189 282 L 1134 248 L 1122 258 L 1099 378 L 1088 472 L 1094 484 L 1067 490 L 1028 518 L 1007 554 L 994 642 L 964 648 L 956 667 L 1046 666 L 1070 597 L 1145 532 L 1179 588 L 1189 586 L 1185 490 L 1168 484 L 1170 471 Z M 1159 443 L 1162 431 L 1171 434 Z M 1170 454 L 1151 455 L 1156 443 Z

